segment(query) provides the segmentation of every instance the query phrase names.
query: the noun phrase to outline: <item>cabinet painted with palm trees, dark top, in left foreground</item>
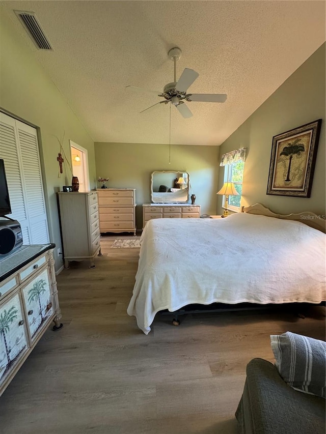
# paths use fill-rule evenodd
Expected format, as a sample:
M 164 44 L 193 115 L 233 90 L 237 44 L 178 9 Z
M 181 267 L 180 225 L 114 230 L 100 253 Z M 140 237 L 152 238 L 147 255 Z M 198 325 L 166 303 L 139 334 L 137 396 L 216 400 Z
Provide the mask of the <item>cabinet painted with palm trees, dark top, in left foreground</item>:
M 62 327 L 54 247 L 22 246 L 0 258 L 0 395 L 50 323 Z

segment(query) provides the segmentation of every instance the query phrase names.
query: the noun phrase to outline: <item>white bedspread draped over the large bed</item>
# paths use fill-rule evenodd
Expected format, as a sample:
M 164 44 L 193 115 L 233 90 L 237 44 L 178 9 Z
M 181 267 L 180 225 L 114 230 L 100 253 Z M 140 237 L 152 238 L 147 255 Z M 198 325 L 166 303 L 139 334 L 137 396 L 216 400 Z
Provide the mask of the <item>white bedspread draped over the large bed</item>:
M 150 220 L 127 312 L 148 334 L 156 312 L 187 304 L 320 303 L 325 240 L 303 223 L 245 213 Z

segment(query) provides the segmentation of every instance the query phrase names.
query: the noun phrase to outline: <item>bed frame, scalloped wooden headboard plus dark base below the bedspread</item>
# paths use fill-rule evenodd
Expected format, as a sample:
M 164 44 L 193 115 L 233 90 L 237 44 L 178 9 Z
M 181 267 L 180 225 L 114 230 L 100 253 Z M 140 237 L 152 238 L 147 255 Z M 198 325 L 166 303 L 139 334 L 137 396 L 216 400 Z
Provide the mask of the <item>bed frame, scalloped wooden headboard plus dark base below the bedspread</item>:
M 301 223 L 307 224 L 314 229 L 318 229 L 324 234 L 326 233 L 326 220 L 324 216 L 317 215 L 310 211 L 304 211 L 298 214 L 276 214 L 273 211 L 270 211 L 268 208 L 264 207 L 261 204 L 251 205 L 249 207 L 242 207 L 241 212 L 248 214 L 257 214 L 263 215 L 266 217 L 274 217 L 281 218 L 285 220 L 295 220 L 300 221 Z M 305 303 L 306 305 L 308 303 Z M 302 303 L 292 303 L 294 312 L 297 316 L 301 318 L 305 318 L 305 314 L 302 313 Z M 321 303 L 322 306 L 325 306 L 325 302 Z M 198 306 L 198 307 L 197 307 Z M 239 310 L 262 310 L 262 309 L 271 309 L 275 307 L 274 304 L 265 304 L 265 305 L 255 305 L 251 303 L 240 303 L 238 305 L 227 305 L 223 303 L 213 303 L 213 305 L 189 305 L 181 308 L 175 312 L 170 312 L 168 310 L 160 312 L 161 314 L 170 314 L 174 315 L 172 320 L 172 324 L 174 326 L 180 325 L 180 320 L 178 319 L 179 315 L 184 315 L 186 313 L 203 313 L 203 312 L 230 312 L 230 311 L 239 311 Z M 277 305 L 280 307 L 280 305 Z

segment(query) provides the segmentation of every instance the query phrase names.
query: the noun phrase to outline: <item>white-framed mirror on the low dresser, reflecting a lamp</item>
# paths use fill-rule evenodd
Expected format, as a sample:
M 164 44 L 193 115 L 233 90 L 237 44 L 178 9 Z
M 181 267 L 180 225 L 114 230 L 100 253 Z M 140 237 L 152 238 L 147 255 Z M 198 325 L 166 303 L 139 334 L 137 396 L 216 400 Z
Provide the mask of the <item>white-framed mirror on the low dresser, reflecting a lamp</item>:
M 181 170 L 153 172 L 151 194 L 153 204 L 186 203 L 189 199 L 189 173 Z

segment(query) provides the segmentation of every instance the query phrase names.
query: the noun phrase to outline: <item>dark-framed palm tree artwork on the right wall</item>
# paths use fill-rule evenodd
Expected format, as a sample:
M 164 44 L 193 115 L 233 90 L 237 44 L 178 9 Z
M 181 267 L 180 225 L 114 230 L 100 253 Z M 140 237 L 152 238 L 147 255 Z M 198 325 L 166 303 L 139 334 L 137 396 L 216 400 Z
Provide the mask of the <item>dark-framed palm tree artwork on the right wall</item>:
M 273 137 L 267 194 L 310 197 L 321 119 Z

